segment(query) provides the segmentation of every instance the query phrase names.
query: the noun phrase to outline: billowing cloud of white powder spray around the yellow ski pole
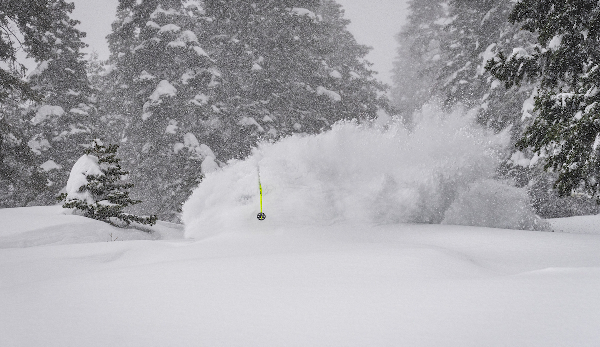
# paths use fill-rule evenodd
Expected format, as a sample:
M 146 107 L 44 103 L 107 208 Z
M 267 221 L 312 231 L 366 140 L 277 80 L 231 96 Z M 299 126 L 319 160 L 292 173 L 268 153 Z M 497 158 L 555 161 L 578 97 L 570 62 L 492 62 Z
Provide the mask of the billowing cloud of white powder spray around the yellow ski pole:
M 338 223 L 534 228 L 524 189 L 493 179 L 508 136 L 474 126 L 473 116 L 426 106 L 412 131 L 340 122 L 262 143 L 200 183 L 184 205 L 186 236 Z M 256 218 L 259 167 L 265 221 Z

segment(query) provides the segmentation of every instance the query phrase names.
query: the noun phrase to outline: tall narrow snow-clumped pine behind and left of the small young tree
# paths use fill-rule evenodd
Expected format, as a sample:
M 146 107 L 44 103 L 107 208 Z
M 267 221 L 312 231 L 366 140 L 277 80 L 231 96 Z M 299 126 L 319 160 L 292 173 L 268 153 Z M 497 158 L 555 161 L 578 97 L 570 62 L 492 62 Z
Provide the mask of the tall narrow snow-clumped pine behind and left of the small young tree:
M 77 30 L 79 22 L 69 17 L 74 5 L 65 0 L 49 0 L 46 6 L 45 20 L 50 21 L 50 26 L 38 32 L 38 40 L 52 45 L 35 57 L 38 67 L 28 77 L 41 102 L 25 113 L 30 120 L 28 144 L 50 176 L 49 192 L 38 197 L 38 204 L 51 204 L 64 188 L 68 168 L 91 140 L 96 123 L 86 62 L 80 52 L 86 47 L 81 41 L 85 33 Z

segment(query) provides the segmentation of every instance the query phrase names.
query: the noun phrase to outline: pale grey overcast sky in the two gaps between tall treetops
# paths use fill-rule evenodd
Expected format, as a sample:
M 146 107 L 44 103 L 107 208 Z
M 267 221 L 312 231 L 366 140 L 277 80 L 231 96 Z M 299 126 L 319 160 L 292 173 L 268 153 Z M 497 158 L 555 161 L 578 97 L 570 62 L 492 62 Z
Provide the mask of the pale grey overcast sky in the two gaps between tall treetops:
M 73 18 L 82 22 L 81 31 L 88 34 L 85 43 L 91 53 L 95 50 L 100 59 L 108 59 L 106 36 L 115 20 L 118 0 L 71 0 L 75 2 Z M 371 46 L 374 50 L 367 59 L 379 72 L 377 78 L 391 84 L 392 62 L 396 56 L 397 43 L 394 35 L 400 31 L 407 16 L 408 0 L 337 0 L 346 10 L 346 18 L 352 20 L 350 32 L 356 41 Z

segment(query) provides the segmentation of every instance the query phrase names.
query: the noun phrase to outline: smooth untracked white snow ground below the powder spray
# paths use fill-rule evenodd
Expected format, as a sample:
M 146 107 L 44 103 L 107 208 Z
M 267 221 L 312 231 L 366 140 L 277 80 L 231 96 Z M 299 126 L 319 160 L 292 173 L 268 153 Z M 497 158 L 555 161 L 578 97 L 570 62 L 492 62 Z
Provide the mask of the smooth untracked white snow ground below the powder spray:
M 559 221 L 582 219 L 600 222 Z M 139 240 L 176 226 L 160 236 L 59 207 L 0 210 L 0 345 L 600 343 L 599 234 L 261 223 Z

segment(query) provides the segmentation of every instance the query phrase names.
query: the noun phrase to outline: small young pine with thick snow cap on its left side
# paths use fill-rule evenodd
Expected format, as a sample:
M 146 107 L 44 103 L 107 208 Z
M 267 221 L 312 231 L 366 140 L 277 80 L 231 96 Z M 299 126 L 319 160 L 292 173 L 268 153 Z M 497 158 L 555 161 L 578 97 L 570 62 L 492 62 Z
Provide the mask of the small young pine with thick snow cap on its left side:
M 83 216 L 116 227 L 124 224 L 129 226 L 131 222 L 154 225 L 157 216 L 142 217 L 123 212 L 125 207 L 142 201 L 132 200 L 128 190 L 134 185 L 121 181 L 129 172 L 121 168 L 121 159 L 116 158 L 118 148 L 118 144 L 109 144 L 107 147 L 98 138 L 92 140 L 91 147 L 86 149 L 86 154 L 71 170 L 67 192 L 56 199 L 65 201 L 62 206 L 65 209 L 77 209 Z M 86 182 L 82 182 L 84 175 Z M 122 223 L 117 223 L 116 219 Z

